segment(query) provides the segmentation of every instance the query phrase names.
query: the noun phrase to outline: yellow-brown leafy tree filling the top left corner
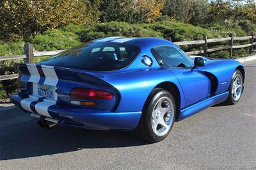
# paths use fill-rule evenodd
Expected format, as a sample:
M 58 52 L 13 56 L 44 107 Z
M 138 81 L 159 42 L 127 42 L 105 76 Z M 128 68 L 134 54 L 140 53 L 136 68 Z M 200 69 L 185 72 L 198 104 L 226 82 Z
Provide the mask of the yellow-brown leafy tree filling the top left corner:
M 79 0 L 4 0 L 0 3 L 0 38 L 9 34 L 26 39 L 68 23 L 84 24 L 84 4 Z M 3 39 L 2 39 L 3 40 Z

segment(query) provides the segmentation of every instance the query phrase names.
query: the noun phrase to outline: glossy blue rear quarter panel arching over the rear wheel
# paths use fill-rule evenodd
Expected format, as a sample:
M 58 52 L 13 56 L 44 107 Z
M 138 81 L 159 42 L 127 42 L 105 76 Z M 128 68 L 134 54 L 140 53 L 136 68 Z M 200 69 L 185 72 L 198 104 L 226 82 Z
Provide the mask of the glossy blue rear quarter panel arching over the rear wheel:
M 162 68 L 130 70 L 108 75 L 103 79 L 120 92 L 116 112 L 142 111 L 148 95 L 161 82 L 173 82 L 180 91 L 180 107 L 186 105 L 179 81 L 172 73 Z

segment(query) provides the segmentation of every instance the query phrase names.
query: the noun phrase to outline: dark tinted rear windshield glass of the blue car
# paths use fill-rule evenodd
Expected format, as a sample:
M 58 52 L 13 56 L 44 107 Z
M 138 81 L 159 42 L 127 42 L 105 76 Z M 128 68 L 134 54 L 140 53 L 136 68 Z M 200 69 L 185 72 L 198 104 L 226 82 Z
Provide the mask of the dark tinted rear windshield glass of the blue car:
M 125 68 L 134 61 L 139 53 L 139 47 L 125 43 L 89 42 L 65 50 L 38 64 L 93 71 L 111 71 Z

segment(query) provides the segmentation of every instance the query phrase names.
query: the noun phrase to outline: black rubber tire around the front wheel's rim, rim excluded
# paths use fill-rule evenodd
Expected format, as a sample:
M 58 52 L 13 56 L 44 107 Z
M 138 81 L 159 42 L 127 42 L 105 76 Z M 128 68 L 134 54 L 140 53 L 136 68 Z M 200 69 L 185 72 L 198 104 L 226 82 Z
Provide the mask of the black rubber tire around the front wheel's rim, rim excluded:
M 236 104 L 237 102 L 239 102 L 240 98 L 241 98 L 241 95 L 240 97 L 235 100 L 234 97 L 233 97 L 233 94 L 232 94 L 232 85 L 233 85 L 233 82 L 234 82 L 234 79 L 236 77 L 236 75 L 240 75 L 242 77 L 242 82 L 241 82 L 241 95 L 242 95 L 242 92 L 243 92 L 243 88 L 244 88 L 244 79 L 243 79 L 243 74 L 239 71 L 239 70 L 236 70 L 232 76 L 232 80 L 230 82 L 230 85 L 229 85 L 229 88 L 228 88 L 228 91 L 229 91 L 229 94 L 228 94 L 228 98 L 227 100 L 225 101 L 225 104 L 228 104 L 228 105 L 233 105 L 233 104 Z

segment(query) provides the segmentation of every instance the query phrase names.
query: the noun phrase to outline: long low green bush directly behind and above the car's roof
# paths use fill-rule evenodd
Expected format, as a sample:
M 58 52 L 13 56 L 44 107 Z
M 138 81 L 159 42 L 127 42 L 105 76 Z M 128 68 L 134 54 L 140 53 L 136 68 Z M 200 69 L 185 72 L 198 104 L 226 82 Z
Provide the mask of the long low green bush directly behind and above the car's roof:
M 192 26 L 191 24 L 172 21 L 153 22 L 152 24 L 128 24 L 127 22 L 99 23 L 84 29 L 84 31 L 80 33 L 80 36 L 82 42 L 88 42 L 104 36 L 172 37 L 173 42 L 178 42 L 202 40 L 204 34 L 208 35 L 210 38 L 220 37 L 218 33 L 214 31 Z

